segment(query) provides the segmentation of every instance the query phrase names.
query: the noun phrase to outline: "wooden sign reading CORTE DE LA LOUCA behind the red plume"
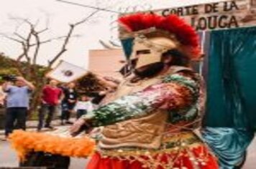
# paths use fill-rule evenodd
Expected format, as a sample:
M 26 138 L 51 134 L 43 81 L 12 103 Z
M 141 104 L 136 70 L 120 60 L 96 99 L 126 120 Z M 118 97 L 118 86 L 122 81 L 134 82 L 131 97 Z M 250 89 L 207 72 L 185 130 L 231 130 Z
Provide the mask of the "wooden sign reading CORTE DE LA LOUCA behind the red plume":
M 177 14 L 197 31 L 231 29 L 256 25 L 256 0 L 221 1 L 151 11 L 168 16 Z

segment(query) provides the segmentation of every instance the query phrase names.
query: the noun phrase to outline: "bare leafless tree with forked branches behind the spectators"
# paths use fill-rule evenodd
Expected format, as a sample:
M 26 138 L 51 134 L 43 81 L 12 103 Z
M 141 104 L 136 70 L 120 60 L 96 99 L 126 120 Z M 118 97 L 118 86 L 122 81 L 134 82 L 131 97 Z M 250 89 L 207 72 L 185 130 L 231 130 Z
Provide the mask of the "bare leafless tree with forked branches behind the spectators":
M 15 29 L 11 36 L 1 34 L 1 36 L 19 43 L 22 47 L 22 50 L 19 56 L 17 56 L 17 58 L 15 59 L 16 62 L 14 62 L 13 66 L 17 68 L 19 75 L 25 77 L 26 79 L 29 79 L 35 84 L 36 91 L 33 93 L 31 109 L 29 112 L 34 112 L 37 108 L 37 105 L 40 104 L 40 94 L 42 92 L 42 87 L 47 82 L 47 79 L 44 75 L 47 71 L 51 69 L 52 65 L 55 64 L 55 62 L 60 59 L 60 57 L 68 50 L 67 46 L 70 42 L 70 38 L 73 37 L 73 32 L 76 26 L 86 23 L 86 21 L 91 19 L 91 17 L 94 16 L 98 11 L 99 9 L 91 12 L 91 14 L 86 16 L 86 18 L 82 19 L 81 21 L 78 21 L 74 24 L 69 24 L 69 30 L 65 36 L 54 37 L 46 40 L 43 40 L 42 37 L 44 36 L 43 34 L 45 34 L 45 32 L 49 30 L 48 25 L 46 25 L 43 29 L 37 29 L 37 24 L 39 23 L 39 21 L 36 21 L 34 24 L 32 23 L 32 21 L 29 21 L 29 19 L 23 19 L 18 17 L 11 18 L 15 21 L 19 21 L 22 24 L 27 25 L 29 28 L 27 30 L 26 36 L 19 33 L 18 27 L 17 29 Z M 50 43 L 55 39 L 63 39 L 63 43 L 60 45 L 59 52 L 52 56 L 52 59 L 48 60 L 46 67 L 39 66 L 37 64 L 37 59 L 39 57 L 39 52 L 42 45 Z

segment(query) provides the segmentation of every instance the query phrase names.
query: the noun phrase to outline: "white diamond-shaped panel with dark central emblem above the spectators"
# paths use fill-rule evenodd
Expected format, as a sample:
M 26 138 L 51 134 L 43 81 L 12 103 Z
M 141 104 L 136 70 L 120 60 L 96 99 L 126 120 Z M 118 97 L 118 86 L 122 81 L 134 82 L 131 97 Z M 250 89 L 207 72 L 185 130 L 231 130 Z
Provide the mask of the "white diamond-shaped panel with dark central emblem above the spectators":
M 46 74 L 46 77 L 58 80 L 59 82 L 68 83 L 83 77 L 87 72 L 88 71 L 82 67 L 78 67 L 65 61 L 60 61 L 57 67 Z

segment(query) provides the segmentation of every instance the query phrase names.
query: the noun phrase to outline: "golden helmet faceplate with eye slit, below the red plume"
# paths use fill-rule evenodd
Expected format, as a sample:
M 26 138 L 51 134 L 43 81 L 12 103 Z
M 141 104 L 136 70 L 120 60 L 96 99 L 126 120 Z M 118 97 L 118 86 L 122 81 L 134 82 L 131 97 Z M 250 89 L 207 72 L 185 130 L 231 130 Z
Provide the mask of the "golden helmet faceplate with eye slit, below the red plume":
M 177 47 L 174 41 L 165 37 L 135 37 L 130 59 L 137 59 L 135 69 L 161 62 L 162 54 Z

